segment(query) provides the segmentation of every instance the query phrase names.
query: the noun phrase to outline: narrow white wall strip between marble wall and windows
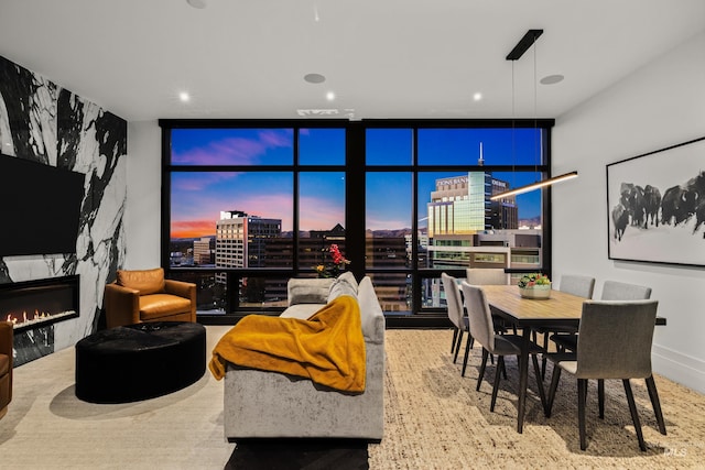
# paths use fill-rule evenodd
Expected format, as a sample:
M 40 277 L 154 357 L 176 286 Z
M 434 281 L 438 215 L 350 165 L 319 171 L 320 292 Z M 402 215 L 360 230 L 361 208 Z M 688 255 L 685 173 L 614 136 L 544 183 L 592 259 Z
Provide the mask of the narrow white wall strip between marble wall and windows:
M 128 123 L 124 269 L 158 267 L 162 217 L 162 133 L 158 121 Z

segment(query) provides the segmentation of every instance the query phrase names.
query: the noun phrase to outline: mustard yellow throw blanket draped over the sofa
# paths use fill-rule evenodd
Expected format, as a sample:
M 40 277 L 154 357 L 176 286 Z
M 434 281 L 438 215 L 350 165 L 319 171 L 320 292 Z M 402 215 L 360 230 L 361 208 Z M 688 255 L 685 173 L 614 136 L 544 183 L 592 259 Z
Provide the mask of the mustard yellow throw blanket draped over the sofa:
M 308 319 L 249 315 L 220 338 L 208 364 L 217 380 L 226 363 L 311 379 L 335 390 L 365 391 L 360 307 L 341 295 Z

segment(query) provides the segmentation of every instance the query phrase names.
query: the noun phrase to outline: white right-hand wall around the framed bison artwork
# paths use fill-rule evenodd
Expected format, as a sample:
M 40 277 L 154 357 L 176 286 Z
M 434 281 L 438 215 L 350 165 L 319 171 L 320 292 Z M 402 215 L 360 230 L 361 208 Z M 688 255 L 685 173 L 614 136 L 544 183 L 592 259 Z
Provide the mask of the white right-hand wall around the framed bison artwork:
M 594 275 L 596 298 L 605 280 L 651 286 L 668 320 L 657 327 L 654 371 L 702 393 L 705 267 L 607 259 L 606 165 L 705 135 L 704 51 L 702 33 L 557 118 L 552 163 L 553 174 L 579 174 L 553 188 L 553 277 Z

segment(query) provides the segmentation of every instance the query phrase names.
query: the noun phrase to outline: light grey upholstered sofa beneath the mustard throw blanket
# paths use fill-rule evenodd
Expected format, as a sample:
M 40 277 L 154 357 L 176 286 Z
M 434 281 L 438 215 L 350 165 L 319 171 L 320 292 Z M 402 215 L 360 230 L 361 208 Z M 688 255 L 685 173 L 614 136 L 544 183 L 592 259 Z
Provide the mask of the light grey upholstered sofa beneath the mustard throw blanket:
M 347 394 L 278 372 L 227 364 L 225 435 L 228 440 L 333 437 L 380 440 L 384 425 L 384 316 L 371 280 L 290 280 L 282 317 L 308 318 L 338 295 L 355 295 L 366 346 L 366 387 Z

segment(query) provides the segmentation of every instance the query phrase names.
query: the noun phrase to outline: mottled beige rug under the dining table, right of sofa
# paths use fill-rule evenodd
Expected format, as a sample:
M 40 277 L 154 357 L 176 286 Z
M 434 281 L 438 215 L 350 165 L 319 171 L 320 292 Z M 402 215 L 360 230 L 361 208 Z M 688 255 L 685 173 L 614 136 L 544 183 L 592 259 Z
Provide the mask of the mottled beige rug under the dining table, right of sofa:
M 551 418 L 543 415 L 533 368 L 523 434 L 517 433 L 517 361 L 490 413 L 495 367 L 479 392 L 476 345 L 466 376 L 451 354 L 448 330 L 387 331 L 384 439 L 369 446 L 371 469 L 666 469 L 705 468 L 705 396 L 655 376 L 668 435 L 657 428 L 643 381 L 632 390 L 649 450 L 639 450 L 621 381 L 606 382 L 605 419 L 597 416 L 597 387 L 588 390 L 588 448 L 579 449 L 576 381 L 564 373 Z M 465 346 L 463 346 L 464 348 Z M 545 387 L 550 384 L 551 365 Z

